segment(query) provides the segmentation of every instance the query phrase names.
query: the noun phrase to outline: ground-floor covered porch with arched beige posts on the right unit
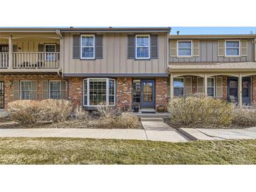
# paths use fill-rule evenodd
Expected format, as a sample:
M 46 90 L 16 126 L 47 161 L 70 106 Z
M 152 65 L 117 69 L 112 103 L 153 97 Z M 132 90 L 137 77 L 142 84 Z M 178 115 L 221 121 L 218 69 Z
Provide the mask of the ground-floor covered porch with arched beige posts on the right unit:
M 180 95 L 207 95 L 243 104 L 255 104 L 256 62 L 169 63 L 170 99 Z

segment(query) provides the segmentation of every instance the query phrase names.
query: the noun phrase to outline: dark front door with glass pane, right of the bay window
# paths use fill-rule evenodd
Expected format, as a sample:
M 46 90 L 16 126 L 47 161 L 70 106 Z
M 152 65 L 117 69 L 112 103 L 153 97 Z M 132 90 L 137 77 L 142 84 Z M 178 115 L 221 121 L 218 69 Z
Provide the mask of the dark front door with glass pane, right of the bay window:
M 154 80 L 142 80 L 141 81 L 141 105 L 142 108 L 154 108 L 155 92 L 154 92 Z

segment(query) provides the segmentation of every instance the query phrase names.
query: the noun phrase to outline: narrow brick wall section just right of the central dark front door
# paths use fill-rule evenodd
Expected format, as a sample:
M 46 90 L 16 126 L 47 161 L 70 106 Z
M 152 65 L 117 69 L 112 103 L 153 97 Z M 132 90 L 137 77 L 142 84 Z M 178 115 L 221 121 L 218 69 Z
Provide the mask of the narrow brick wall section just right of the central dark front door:
M 156 107 L 167 109 L 168 78 L 156 78 Z

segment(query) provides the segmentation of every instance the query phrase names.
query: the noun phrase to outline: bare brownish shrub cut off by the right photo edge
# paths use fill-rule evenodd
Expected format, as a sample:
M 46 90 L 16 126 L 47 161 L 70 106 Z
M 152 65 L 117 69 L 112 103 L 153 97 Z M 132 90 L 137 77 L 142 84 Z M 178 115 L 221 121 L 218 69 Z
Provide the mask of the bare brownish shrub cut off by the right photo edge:
M 256 109 L 255 107 L 246 107 L 234 109 L 234 125 L 239 126 L 256 126 Z

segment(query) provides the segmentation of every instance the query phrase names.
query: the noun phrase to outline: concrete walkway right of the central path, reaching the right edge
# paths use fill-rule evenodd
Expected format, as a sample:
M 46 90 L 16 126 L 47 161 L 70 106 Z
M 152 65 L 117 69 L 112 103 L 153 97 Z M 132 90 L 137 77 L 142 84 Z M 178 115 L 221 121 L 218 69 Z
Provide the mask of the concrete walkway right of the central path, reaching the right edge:
M 246 129 L 190 129 L 180 132 L 191 140 L 256 139 L 256 128 Z

